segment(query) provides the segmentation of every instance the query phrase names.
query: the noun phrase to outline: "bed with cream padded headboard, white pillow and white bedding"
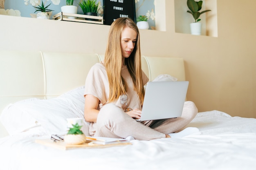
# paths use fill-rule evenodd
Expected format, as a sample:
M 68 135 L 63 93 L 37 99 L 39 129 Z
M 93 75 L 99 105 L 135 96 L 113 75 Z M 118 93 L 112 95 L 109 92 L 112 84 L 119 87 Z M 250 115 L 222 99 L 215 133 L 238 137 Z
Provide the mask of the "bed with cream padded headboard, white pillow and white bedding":
M 67 118 L 83 117 L 85 78 L 101 60 L 100 54 L 0 51 L 0 170 L 256 168 L 256 119 L 219 110 L 198 113 L 186 127 L 200 132 L 182 138 L 69 150 L 36 143 L 65 133 Z M 141 61 L 150 81 L 159 75 L 186 79 L 182 58 Z M 84 121 L 85 135 L 88 125 Z

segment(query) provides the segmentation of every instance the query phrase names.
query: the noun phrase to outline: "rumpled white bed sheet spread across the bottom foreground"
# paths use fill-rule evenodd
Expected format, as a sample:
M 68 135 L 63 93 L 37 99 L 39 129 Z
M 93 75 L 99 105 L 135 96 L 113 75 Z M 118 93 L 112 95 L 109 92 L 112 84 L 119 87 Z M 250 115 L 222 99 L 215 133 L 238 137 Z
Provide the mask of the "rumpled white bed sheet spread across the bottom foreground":
M 36 144 L 45 136 L 22 132 L 0 139 L 0 170 L 255 170 L 256 119 L 213 110 L 198 113 L 188 126 L 200 133 L 73 150 Z

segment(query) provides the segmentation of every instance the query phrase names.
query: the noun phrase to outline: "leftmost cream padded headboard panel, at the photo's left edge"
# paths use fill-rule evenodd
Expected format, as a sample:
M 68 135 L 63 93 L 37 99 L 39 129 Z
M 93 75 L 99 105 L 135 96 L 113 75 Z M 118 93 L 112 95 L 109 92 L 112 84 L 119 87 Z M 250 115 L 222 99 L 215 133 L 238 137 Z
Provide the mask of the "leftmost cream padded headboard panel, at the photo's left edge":
M 40 52 L 0 53 L 0 95 L 40 96 L 44 94 L 44 66 Z

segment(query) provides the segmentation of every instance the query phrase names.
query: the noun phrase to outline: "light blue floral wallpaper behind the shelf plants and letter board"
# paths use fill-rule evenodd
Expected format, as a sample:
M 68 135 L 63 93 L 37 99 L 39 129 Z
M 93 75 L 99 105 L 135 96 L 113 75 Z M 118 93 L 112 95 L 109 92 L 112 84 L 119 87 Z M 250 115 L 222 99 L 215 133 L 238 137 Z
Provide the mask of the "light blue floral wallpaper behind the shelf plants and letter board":
M 66 4 L 66 0 L 43 0 L 48 5 L 48 9 L 54 10 L 52 15 L 61 12 L 61 7 Z M 78 3 L 80 0 L 74 0 L 74 5 L 78 6 L 79 14 L 83 14 Z M 103 0 L 97 0 L 103 5 Z M 34 7 L 41 3 L 41 0 L 0 0 L 0 14 L 1 15 L 15 15 L 22 17 L 35 17 Z M 155 29 L 155 0 L 135 0 L 136 16 L 147 15 L 149 20 L 149 29 Z M 34 14 L 34 15 L 33 15 Z M 103 15 L 103 10 L 99 12 L 99 15 Z M 52 16 L 50 17 L 52 19 Z

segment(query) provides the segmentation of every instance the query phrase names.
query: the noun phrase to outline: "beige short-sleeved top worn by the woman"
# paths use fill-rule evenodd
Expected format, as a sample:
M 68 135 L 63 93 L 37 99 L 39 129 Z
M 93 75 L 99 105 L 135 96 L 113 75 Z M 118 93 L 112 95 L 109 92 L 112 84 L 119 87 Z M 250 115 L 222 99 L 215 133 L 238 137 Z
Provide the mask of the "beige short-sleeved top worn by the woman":
M 134 86 L 130 73 L 127 66 L 122 67 L 121 75 L 125 79 L 128 89 L 127 93 L 119 96 L 115 105 L 123 108 L 132 108 L 141 110 L 141 102 L 136 91 L 134 91 Z M 148 82 L 148 77 L 144 72 L 142 72 L 143 85 Z M 85 81 L 85 93 L 84 95 L 94 95 L 99 99 L 98 110 L 108 102 L 109 97 L 109 84 L 108 84 L 108 75 L 106 68 L 102 63 L 97 63 L 90 69 L 86 81 Z

